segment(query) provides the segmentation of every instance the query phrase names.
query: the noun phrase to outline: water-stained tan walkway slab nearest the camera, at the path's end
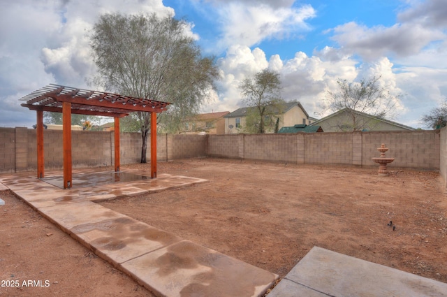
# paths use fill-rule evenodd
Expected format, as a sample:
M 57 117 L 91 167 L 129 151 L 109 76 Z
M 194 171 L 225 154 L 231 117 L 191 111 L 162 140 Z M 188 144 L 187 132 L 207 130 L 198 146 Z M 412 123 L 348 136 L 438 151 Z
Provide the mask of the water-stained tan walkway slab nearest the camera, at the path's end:
M 121 264 L 158 296 L 261 296 L 277 275 L 182 240 Z

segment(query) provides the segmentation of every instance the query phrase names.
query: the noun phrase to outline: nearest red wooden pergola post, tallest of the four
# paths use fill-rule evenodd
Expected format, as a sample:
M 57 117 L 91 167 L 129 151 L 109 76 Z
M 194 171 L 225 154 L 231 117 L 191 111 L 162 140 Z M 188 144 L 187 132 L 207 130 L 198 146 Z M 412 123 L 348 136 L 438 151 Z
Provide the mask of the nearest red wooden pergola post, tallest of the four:
M 72 183 L 71 169 L 71 103 L 62 103 L 62 141 L 64 143 L 64 189 L 70 189 Z

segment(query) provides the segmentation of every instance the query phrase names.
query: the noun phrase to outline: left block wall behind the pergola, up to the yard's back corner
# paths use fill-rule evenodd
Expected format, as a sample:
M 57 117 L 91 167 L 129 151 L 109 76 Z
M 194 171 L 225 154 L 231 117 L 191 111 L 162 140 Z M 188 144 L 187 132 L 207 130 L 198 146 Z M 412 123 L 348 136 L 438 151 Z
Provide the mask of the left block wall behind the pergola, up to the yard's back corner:
M 45 169 L 61 169 L 64 164 L 62 131 L 44 130 Z M 140 133 L 120 134 L 121 164 L 139 163 L 142 137 Z M 115 133 L 72 131 L 73 168 L 115 164 Z M 147 161 L 151 157 L 151 142 L 147 140 Z M 157 160 L 205 157 L 207 136 L 157 136 Z M 0 173 L 37 170 L 36 129 L 0 128 Z

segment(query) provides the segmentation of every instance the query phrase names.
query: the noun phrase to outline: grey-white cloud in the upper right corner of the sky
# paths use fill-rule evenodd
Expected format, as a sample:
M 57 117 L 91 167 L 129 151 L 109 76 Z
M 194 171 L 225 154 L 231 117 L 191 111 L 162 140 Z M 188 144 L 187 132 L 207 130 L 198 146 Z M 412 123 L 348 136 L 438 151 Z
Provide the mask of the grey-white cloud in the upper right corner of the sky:
M 402 59 L 447 43 L 445 0 L 407 1 L 409 6 L 397 15 L 393 26 L 366 27 L 348 22 L 332 30 L 332 40 L 347 55 L 360 55 L 374 61 L 381 57 Z M 443 47 L 445 48 L 445 46 Z M 431 54 L 431 53 L 430 53 Z

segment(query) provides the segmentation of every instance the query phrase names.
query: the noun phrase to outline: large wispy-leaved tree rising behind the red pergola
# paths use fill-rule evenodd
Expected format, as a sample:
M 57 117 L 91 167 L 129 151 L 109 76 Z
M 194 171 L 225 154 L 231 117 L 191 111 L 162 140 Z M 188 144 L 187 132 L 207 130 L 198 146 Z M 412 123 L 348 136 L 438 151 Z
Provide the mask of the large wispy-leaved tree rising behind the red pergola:
M 91 34 L 96 85 L 173 103 L 157 117 L 166 132 L 198 113 L 218 76 L 214 59 L 202 57 L 193 38 L 185 34 L 186 26 L 173 17 L 115 13 L 101 15 Z M 150 115 L 138 112 L 134 117 L 142 135 L 141 162 L 146 163 Z

